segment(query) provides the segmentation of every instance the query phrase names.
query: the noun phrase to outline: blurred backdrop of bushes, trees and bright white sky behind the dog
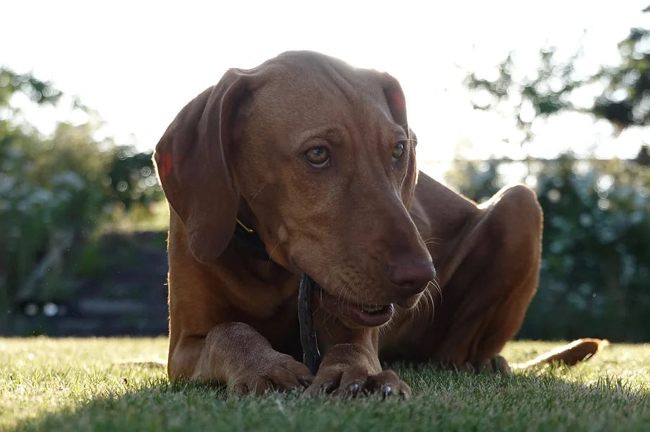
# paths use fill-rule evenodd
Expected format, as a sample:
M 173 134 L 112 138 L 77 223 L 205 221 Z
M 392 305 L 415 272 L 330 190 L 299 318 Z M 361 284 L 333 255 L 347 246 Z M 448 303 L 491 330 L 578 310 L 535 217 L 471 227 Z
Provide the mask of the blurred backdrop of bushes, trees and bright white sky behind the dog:
M 401 81 L 438 181 L 478 202 L 537 191 L 542 272 L 518 337 L 650 341 L 648 1 L 349 3 L 4 15 L 0 335 L 165 334 L 157 139 L 228 67 L 311 49 Z

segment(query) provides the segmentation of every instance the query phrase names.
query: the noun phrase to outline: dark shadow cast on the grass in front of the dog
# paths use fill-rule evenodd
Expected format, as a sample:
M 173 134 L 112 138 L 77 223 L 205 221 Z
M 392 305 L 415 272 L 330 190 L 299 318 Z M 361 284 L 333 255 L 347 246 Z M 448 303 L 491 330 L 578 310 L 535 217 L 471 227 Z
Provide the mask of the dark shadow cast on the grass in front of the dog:
M 270 393 L 232 398 L 223 389 L 157 378 L 72 410 L 22 421 L 18 430 L 69 431 L 378 431 L 647 430 L 645 389 L 616 378 L 568 382 L 563 370 L 514 377 L 398 367 L 410 400 Z

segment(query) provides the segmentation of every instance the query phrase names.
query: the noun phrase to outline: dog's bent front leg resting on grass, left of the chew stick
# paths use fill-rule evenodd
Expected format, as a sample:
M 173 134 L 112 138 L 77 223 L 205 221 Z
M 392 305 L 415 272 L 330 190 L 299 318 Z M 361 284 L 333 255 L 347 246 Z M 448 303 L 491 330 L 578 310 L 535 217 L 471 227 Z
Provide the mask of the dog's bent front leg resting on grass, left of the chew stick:
M 181 337 L 169 356 L 168 369 L 171 379 L 219 382 L 238 393 L 302 390 L 313 379 L 304 364 L 275 351 L 244 323 L 215 325 L 205 337 Z

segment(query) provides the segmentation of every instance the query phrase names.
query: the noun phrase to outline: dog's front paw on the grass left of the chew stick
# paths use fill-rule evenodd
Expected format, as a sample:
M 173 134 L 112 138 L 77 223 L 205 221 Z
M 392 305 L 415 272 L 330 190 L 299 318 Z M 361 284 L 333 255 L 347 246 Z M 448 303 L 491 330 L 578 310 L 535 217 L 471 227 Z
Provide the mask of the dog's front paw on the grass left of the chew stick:
M 303 391 L 313 381 L 313 375 L 291 356 L 275 353 L 254 366 L 240 367 L 228 382 L 228 392 L 234 394 L 263 394 L 265 391 Z

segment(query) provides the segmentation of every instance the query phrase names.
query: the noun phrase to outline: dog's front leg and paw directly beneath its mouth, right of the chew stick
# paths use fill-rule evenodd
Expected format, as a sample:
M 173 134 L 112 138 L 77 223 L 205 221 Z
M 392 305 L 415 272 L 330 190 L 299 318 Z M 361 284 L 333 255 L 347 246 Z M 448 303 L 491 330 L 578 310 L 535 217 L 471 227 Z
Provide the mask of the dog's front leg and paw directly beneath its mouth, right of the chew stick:
M 356 332 L 353 332 L 356 333 Z M 393 370 L 383 370 L 377 356 L 376 328 L 360 330 L 353 343 L 332 344 L 325 349 L 323 363 L 318 368 L 306 396 L 337 393 L 357 396 L 381 393 L 384 397 L 410 396 L 410 387 Z M 325 344 L 327 346 L 327 344 Z

